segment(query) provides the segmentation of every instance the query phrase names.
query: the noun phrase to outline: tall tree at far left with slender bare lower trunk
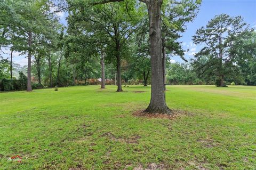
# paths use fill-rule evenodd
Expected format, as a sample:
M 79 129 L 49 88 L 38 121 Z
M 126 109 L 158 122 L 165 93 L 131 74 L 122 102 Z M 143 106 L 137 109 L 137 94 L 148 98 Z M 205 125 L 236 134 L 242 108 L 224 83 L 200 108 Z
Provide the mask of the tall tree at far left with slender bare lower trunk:
M 4 14 L 8 18 L 7 22 L 6 20 L 2 20 L 0 25 L 15 31 L 15 36 L 21 37 L 27 42 L 27 45 L 23 48 L 23 51 L 27 51 L 28 53 L 27 91 L 32 91 L 31 57 L 35 51 L 33 39 L 38 36 L 49 36 L 56 27 L 55 23 L 57 20 L 49 12 L 50 4 L 51 2 L 48 0 L 19 0 L 15 2 L 4 0 L 0 4 L 1 8 L 3 7 L 6 10 Z

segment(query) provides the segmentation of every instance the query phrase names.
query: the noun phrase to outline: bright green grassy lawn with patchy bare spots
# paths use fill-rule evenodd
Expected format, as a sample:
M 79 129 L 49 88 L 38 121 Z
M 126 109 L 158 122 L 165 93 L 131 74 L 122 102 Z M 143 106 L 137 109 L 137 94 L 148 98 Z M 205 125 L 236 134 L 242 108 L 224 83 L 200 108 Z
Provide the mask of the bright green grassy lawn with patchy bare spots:
M 172 120 L 132 115 L 150 87 L 115 90 L 0 93 L 0 169 L 256 169 L 255 86 L 168 86 Z

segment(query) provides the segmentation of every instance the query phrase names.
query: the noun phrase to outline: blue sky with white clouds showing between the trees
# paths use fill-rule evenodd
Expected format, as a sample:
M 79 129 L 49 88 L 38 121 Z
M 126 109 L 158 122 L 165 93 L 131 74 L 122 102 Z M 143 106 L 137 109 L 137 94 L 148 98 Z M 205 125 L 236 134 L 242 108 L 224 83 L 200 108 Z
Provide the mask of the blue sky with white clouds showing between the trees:
M 185 50 L 189 49 L 189 52 L 185 54 L 187 59 L 193 58 L 193 54 L 200 50 L 200 46 L 196 46 L 191 41 L 191 36 L 193 36 L 196 30 L 202 26 L 205 26 L 208 21 L 210 21 L 215 15 L 226 13 L 232 17 L 241 15 L 244 21 L 256 29 L 256 0 L 203 0 L 202 5 L 199 9 L 197 17 L 193 22 L 187 24 L 187 30 L 182 34 L 179 41 L 183 42 L 182 46 Z M 67 14 L 64 12 L 58 13 L 61 23 L 67 23 L 65 18 Z M 7 49 L 2 49 L 5 54 L 5 58 L 9 56 L 10 53 Z M 27 64 L 27 59 L 25 56 L 18 56 L 19 53 L 14 52 L 15 63 L 24 66 Z M 172 62 L 183 62 L 179 56 L 172 57 Z

